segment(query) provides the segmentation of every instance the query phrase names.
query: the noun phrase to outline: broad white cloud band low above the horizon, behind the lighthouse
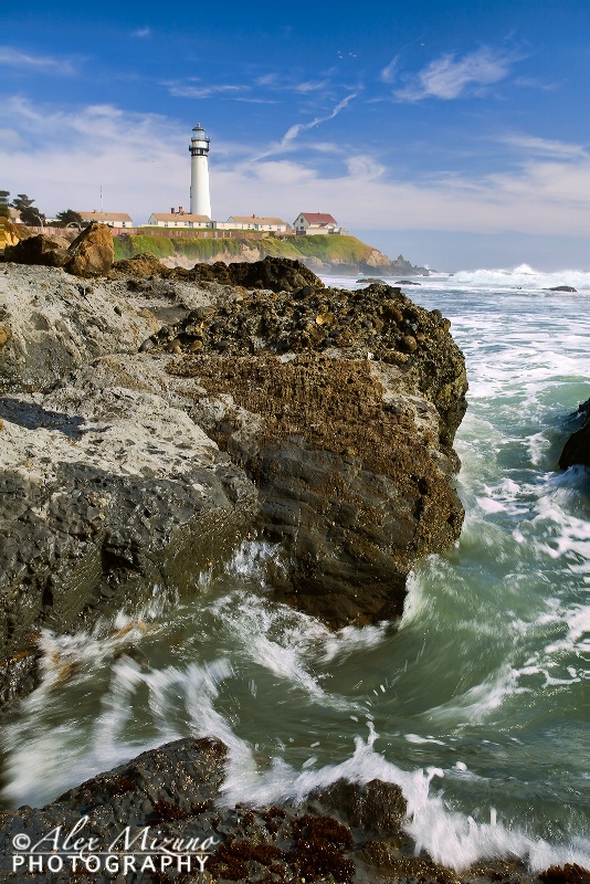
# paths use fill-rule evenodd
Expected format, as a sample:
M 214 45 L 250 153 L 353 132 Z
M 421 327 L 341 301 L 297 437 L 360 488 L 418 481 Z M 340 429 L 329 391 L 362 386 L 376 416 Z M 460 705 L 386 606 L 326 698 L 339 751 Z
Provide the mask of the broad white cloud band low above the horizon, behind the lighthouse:
M 166 117 L 110 105 L 64 112 L 12 98 L 0 101 L 0 118 L 11 120 L 0 143 L 0 186 L 30 193 L 48 214 L 95 208 L 101 186 L 105 209 L 129 212 L 136 223 L 188 203 L 190 131 Z M 368 151 L 333 154 L 327 173 L 316 168 L 322 154 L 302 150 L 287 160 L 272 152 L 253 148 L 244 159 L 243 145 L 212 143 L 217 219 L 255 212 L 293 221 L 299 211 L 326 211 L 349 229 L 590 236 L 584 152 L 527 154 L 510 172 L 439 172 L 413 180 L 394 177 Z

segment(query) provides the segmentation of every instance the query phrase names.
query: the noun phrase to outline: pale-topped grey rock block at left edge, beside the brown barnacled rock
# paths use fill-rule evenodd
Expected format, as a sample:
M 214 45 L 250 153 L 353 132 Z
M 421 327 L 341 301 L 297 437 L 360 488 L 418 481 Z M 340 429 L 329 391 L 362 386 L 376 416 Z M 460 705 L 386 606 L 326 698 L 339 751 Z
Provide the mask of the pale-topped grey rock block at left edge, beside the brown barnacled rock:
M 0 402 L 2 701 L 34 684 L 40 629 L 185 591 L 252 525 L 252 483 L 152 390 L 140 365 L 105 357 Z

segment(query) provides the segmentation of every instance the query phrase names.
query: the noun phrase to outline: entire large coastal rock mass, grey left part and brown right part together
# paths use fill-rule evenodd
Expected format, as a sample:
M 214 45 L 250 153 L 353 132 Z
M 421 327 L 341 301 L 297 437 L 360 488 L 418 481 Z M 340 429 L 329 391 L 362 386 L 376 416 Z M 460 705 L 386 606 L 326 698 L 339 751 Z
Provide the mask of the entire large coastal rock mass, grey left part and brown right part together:
M 439 312 L 276 259 L 200 283 L 128 263 L 0 275 L 4 696 L 43 625 L 182 586 L 246 530 L 276 544 L 275 598 L 333 628 L 400 615 L 413 562 L 459 537 L 466 379 Z

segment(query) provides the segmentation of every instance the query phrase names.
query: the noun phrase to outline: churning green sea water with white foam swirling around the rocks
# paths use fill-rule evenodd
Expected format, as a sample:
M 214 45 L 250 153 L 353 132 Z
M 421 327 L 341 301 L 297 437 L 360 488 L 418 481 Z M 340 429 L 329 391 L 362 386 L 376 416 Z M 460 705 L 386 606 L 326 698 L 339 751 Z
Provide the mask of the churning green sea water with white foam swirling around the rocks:
M 546 291 L 562 284 L 578 292 Z M 3 734 L 6 806 L 217 736 L 228 803 L 379 777 L 401 786 L 407 829 L 439 862 L 590 866 L 590 473 L 557 467 L 590 396 L 590 273 L 523 266 L 404 291 L 452 320 L 470 392 L 462 537 L 415 568 L 397 629 L 334 634 L 272 602 L 275 550 L 245 543 L 222 576 L 196 573 L 192 596 L 154 587 L 92 634 L 46 632 L 43 682 Z

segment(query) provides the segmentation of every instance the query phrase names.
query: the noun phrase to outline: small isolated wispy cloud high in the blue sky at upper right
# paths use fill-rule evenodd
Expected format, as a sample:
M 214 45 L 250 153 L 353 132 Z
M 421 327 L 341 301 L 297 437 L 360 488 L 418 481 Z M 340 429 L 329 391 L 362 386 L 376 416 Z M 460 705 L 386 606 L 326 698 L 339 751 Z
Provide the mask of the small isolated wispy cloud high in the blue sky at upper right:
M 453 53 L 445 54 L 420 71 L 408 86 L 398 90 L 396 97 L 407 102 L 461 98 L 504 80 L 515 61 L 515 56 L 486 46 L 459 59 Z

